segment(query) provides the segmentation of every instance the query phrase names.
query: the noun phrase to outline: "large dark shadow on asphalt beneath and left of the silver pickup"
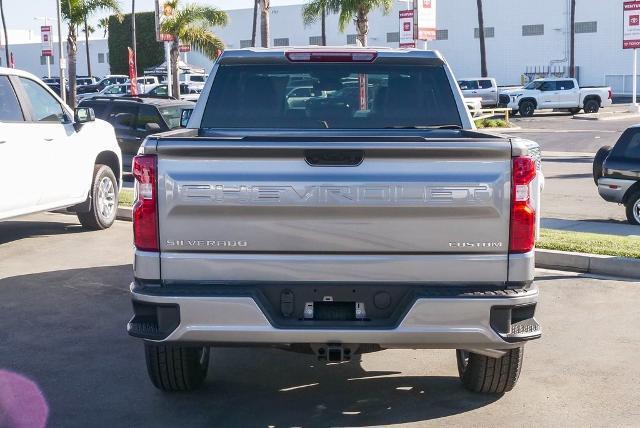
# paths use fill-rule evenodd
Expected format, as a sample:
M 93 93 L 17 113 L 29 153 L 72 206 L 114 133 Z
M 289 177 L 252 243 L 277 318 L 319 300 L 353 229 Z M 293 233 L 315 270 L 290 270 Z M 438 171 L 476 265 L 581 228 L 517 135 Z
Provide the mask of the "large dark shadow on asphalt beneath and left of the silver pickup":
M 384 425 L 465 413 L 500 398 L 467 392 L 457 376 L 426 362 L 421 375 L 403 375 L 420 360 L 397 352 L 374 361 L 394 371 L 367 371 L 357 360 L 326 365 L 263 348 L 214 349 L 201 390 L 162 393 L 147 378 L 142 342 L 126 333 L 131 279 L 131 265 L 121 265 L 0 280 L 0 369 L 35 382 L 51 426 Z

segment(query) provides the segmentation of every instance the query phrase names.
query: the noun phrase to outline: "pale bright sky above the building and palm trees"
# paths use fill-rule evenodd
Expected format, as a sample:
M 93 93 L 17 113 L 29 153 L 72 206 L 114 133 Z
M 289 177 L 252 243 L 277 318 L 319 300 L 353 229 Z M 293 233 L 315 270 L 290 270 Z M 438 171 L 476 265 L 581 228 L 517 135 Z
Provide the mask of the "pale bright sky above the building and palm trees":
M 64 1 L 64 0 L 62 0 Z M 125 12 L 131 12 L 131 0 L 119 0 Z M 302 3 L 303 0 L 272 0 L 272 6 Z M 253 7 L 253 0 L 185 0 L 185 3 L 209 4 L 221 9 L 242 9 Z M 28 8 L 25 6 L 28 4 Z M 7 28 L 10 30 L 40 31 L 42 20 L 36 17 L 47 16 L 55 19 L 56 0 L 4 0 L 4 14 L 7 20 Z M 26 9 L 26 11 L 25 11 Z M 136 0 L 137 11 L 152 11 L 154 0 Z M 91 21 L 96 23 L 100 16 Z

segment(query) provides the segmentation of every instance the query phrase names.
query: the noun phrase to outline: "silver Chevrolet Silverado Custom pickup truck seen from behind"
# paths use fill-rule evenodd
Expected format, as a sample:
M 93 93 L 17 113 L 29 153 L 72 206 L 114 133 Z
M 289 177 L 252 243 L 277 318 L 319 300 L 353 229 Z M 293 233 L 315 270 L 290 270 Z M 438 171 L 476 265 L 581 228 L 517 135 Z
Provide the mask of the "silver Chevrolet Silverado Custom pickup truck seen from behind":
M 437 52 L 226 51 L 187 129 L 134 160 L 128 332 L 165 391 L 216 346 L 455 349 L 466 388 L 509 391 L 540 337 L 539 167 L 474 130 Z

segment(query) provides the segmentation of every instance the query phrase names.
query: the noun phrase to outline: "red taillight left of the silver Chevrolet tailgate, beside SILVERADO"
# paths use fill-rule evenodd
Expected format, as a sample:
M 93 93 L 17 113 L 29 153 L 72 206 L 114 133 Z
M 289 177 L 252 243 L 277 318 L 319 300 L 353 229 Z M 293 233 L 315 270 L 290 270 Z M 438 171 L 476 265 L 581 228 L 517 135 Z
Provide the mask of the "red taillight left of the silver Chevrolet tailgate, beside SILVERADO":
M 133 242 L 138 250 L 158 251 L 156 156 L 133 158 L 136 202 L 133 205 Z

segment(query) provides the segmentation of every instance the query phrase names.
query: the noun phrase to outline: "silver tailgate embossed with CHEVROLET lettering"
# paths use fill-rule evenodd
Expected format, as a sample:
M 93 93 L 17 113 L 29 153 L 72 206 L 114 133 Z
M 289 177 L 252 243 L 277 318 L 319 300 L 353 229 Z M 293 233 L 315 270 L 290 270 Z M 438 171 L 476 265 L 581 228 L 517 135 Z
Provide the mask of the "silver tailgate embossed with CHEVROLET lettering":
M 165 280 L 506 281 L 508 139 L 159 139 Z

